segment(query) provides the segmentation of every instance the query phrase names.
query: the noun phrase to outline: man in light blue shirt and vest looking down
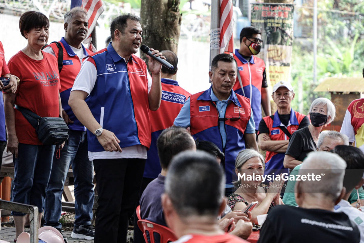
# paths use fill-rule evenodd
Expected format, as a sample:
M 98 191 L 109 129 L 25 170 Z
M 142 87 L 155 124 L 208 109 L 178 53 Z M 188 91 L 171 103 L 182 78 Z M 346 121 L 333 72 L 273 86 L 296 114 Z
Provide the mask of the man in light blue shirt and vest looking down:
M 219 54 L 211 62 L 211 87 L 191 95 L 174 120 L 175 126 L 190 127 L 191 135 L 216 144 L 225 153 L 221 165 L 226 173 L 225 194 L 232 192 L 235 158 L 240 150 L 258 150 L 249 99 L 232 89 L 236 81 L 236 60 Z M 230 191 L 229 191 L 230 190 Z

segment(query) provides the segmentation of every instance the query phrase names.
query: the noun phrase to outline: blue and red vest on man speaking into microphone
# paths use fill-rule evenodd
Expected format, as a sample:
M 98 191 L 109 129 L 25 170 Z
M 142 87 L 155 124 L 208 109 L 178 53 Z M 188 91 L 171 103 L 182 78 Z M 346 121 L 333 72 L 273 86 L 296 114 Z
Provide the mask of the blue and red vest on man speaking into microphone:
M 145 62 L 131 55 L 125 63 L 111 44 L 91 55 L 86 62 L 93 63 L 97 70 L 95 86 L 85 99 L 96 121 L 115 133 L 121 148 L 132 145 L 149 148 L 151 128 Z M 88 151 L 104 151 L 88 130 L 87 140 Z

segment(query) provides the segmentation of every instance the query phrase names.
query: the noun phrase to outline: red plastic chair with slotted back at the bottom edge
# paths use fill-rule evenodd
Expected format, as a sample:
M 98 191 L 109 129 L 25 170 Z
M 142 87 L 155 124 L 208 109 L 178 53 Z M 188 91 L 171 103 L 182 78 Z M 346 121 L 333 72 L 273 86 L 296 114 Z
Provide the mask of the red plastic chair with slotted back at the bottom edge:
M 177 240 L 177 237 L 170 228 L 150 222 L 149 220 L 138 220 L 138 226 L 143 232 L 146 243 L 148 243 L 147 231 L 149 232 L 150 243 L 154 243 L 154 232 L 161 236 L 161 243 L 168 243 Z

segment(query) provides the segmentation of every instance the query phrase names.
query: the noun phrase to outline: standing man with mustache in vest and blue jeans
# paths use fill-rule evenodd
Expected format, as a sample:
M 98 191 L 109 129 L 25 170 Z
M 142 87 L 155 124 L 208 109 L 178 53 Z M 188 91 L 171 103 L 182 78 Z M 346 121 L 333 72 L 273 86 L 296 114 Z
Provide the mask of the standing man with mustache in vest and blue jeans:
M 72 164 L 75 178 L 75 222 L 71 234 L 76 239 L 94 239 L 94 228 L 91 225 L 92 207 L 94 205 L 94 166 L 87 155 L 86 128 L 76 118 L 68 105 L 71 88 L 81 69 L 82 59 L 92 54 L 82 45 L 87 37 L 88 20 L 84 9 L 72 8 L 64 15 L 65 35 L 59 42 L 53 42 L 44 51 L 58 60 L 60 74 L 60 96 L 63 119 L 70 128 L 68 142 L 54 156 L 51 177 L 46 189 L 45 226 L 52 226 L 59 231 L 62 224 L 59 218 L 62 211 L 62 192 L 68 169 Z M 64 237 L 67 243 L 67 238 Z

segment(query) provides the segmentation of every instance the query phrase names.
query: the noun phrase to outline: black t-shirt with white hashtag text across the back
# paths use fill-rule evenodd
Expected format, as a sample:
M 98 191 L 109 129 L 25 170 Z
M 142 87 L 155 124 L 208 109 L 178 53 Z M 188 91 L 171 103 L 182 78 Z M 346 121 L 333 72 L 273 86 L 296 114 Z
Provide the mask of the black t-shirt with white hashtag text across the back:
M 355 223 L 343 212 L 278 205 L 268 214 L 258 243 L 359 243 Z

